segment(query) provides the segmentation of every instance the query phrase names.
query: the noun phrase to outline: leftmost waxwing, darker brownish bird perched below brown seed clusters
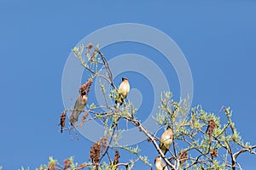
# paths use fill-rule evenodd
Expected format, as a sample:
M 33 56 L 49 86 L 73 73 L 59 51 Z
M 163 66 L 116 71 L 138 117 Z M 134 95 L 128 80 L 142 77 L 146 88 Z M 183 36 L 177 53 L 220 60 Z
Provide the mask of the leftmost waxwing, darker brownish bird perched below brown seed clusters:
M 87 103 L 87 96 L 86 96 L 85 91 L 83 91 L 79 95 L 79 98 L 77 99 L 75 106 L 74 106 L 74 111 L 70 116 L 70 122 L 71 122 L 72 126 L 75 125 L 75 122 L 79 121 L 79 115 L 84 110 L 84 106 L 86 105 L 86 103 Z

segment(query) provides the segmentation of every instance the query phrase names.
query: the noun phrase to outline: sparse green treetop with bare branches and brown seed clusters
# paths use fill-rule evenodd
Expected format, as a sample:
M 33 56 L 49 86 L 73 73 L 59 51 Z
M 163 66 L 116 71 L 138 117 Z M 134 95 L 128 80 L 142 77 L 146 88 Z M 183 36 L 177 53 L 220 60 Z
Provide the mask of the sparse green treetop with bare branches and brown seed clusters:
M 86 51 L 85 51 L 86 49 Z M 119 89 L 113 83 L 112 71 L 108 65 L 108 60 L 102 54 L 99 45 L 89 43 L 87 46 L 79 45 L 73 48 L 73 54 L 79 59 L 80 64 L 87 71 L 88 80 L 81 85 L 79 92 L 85 90 L 86 84 L 96 77 L 102 78 L 112 87 L 108 94 L 105 85 L 101 83 L 98 90 L 101 90 L 105 105 L 93 104 L 88 99 L 88 110 L 83 110 L 80 123 L 74 123 L 67 126 L 67 115 L 75 109 L 62 111 L 61 133 L 66 131 L 76 132 L 76 128 L 86 126 L 86 122 L 97 120 L 102 123 L 105 133 L 101 139 L 98 139 L 90 147 L 87 162 L 75 163 L 73 157 L 59 162 L 49 157 L 49 163 L 38 167 L 42 169 L 133 169 L 138 161 L 145 164 L 145 169 L 153 169 L 154 163 L 157 169 L 241 169 L 237 157 L 242 153 L 249 152 L 255 155 L 256 145 L 245 142 L 240 133 L 237 132 L 235 123 L 232 122 L 232 111 L 230 107 L 222 106 L 221 110 L 215 114 L 204 111 L 201 105 L 189 108 L 188 99 L 174 101 L 171 92 L 162 92 L 160 96 L 159 112 L 154 116 L 155 122 L 161 127 L 171 127 L 173 131 L 173 141 L 170 148 L 166 148 L 166 154 L 160 150 L 160 136 L 158 132 L 149 132 L 146 127 L 137 119 L 137 109 L 131 102 L 125 102 L 125 105 L 118 109 L 108 104 L 107 98 L 123 101 L 119 95 Z M 102 70 L 106 74 L 102 74 Z M 87 89 L 87 94 L 93 93 Z M 90 115 L 90 118 L 88 118 Z M 141 145 L 126 146 L 119 144 L 119 139 L 124 129 L 119 128 L 120 120 L 129 122 L 137 127 L 148 140 L 152 143 L 152 148 L 148 150 L 157 150 L 162 161 L 157 167 L 157 162 L 149 160 L 148 156 L 140 154 Z M 131 157 L 125 157 L 125 162 L 120 162 L 119 157 L 128 152 Z M 148 152 L 150 154 L 150 152 Z

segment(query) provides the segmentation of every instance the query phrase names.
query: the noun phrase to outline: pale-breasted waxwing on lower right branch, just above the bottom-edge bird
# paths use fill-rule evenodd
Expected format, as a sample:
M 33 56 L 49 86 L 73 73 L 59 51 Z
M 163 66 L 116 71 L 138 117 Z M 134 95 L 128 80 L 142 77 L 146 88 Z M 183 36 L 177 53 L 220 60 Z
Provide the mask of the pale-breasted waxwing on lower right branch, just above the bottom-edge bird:
M 166 131 L 162 134 L 160 138 L 160 150 L 166 155 L 167 150 L 169 150 L 173 142 L 173 131 L 170 126 L 167 127 Z

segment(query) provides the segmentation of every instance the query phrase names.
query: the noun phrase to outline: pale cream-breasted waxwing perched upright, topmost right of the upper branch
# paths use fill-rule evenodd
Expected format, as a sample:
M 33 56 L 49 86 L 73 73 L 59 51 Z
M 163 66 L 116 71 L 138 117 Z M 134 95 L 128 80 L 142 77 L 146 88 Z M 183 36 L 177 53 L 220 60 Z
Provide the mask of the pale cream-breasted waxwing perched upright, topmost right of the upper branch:
M 119 91 L 118 91 L 120 101 L 115 100 L 115 106 L 114 106 L 115 108 L 118 108 L 119 105 L 123 105 L 129 91 L 130 91 L 130 84 L 128 82 L 128 78 L 123 77 L 122 82 L 119 85 Z

